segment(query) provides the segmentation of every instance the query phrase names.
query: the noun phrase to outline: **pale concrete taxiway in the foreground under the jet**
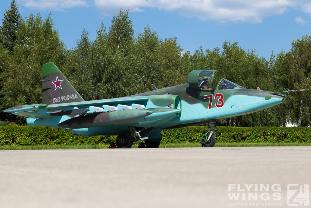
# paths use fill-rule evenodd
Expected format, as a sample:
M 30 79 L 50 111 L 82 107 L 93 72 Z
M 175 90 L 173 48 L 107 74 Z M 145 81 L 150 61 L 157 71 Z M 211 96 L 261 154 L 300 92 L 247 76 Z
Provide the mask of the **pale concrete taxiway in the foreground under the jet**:
M 254 207 L 228 193 L 263 184 L 251 191 L 270 199 L 252 201 L 286 207 L 288 184 L 311 185 L 310 164 L 311 147 L 0 151 L 0 206 Z

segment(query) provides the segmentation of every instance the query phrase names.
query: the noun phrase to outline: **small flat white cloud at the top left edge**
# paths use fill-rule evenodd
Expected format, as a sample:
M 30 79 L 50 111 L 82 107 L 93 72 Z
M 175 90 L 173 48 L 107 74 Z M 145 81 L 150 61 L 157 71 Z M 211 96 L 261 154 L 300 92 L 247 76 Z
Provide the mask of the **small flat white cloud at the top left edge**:
M 44 10 L 64 10 L 72 7 L 86 7 L 85 0 L 19 0 L 25 7 Z

